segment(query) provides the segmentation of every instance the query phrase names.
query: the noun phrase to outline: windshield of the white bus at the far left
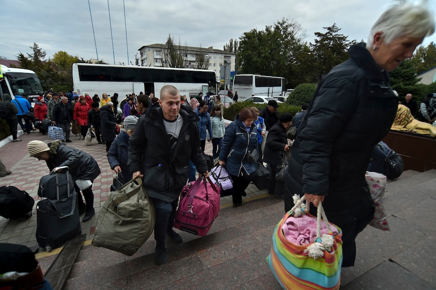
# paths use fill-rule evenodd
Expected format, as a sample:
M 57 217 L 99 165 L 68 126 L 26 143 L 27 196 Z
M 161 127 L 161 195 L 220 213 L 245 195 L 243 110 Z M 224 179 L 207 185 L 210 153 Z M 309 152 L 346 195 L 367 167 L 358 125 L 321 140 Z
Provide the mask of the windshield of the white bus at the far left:
M 7 73 L 4 74 L 9 80 L 9 84 L 14 95 L 28 94 L 42 95 L 42 87 L 38 77 L 31 73 Z

